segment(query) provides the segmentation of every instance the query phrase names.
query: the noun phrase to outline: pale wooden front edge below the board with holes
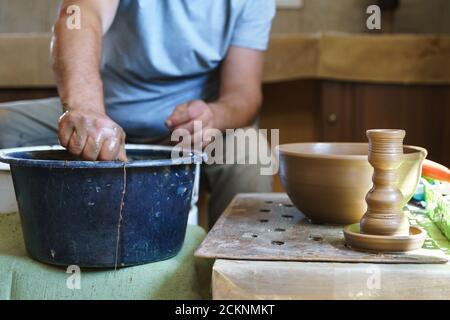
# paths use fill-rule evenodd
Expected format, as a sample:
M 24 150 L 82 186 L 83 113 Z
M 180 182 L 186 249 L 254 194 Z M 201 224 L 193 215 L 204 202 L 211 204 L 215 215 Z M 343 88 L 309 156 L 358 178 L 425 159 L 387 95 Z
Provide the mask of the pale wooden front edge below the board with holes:
M 213 299 L 446 299 L 450 264 L 216 260 Z

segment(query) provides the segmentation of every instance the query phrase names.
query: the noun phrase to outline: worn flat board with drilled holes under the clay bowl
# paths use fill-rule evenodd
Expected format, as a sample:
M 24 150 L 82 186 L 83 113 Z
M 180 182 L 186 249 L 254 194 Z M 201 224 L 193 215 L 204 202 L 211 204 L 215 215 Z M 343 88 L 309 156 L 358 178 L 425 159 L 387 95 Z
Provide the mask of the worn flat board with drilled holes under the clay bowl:
M 447 262 L 445 254 L 437 247 L 399 254 L 351 250 L 345 246 L 342 226 L 311 224 L 282 193 L 236 196 L 196 256 L 309 262 Z

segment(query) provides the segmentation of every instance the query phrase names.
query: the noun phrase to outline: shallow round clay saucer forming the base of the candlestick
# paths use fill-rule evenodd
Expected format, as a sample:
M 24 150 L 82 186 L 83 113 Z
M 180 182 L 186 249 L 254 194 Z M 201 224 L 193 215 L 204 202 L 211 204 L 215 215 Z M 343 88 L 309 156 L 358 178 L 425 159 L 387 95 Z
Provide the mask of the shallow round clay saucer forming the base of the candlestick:
M 354 223 L 344 228 L 344 237 L 347 245 L 355 250 L 394 253 L 422 248 L 426 233 L 410 227 L 409 236 L 377 236 L 360 233 L 359 223 Z

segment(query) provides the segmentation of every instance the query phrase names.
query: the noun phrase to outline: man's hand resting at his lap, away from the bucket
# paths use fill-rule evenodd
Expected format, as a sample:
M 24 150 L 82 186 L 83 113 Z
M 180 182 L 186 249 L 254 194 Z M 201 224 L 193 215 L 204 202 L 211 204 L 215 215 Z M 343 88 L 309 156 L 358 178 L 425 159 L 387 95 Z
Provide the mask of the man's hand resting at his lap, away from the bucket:
M 194 122 L 199 121 L 201 127 L 195 128 Z M 202 100 L 193 100 L 178 105 L 174 112 L 167 118 L 166 126 L 174 131 L 177 129 L 185 129 L 191 134 L 191 141 L 201 141 L 202 147 L 211 142 L 207 138 L 207 129 L 215 128 L 214 110 L 211 105 Z M 195 132 L 194 129 L 199 129 Z M 201 140 L 200 140 L 201 139 Z

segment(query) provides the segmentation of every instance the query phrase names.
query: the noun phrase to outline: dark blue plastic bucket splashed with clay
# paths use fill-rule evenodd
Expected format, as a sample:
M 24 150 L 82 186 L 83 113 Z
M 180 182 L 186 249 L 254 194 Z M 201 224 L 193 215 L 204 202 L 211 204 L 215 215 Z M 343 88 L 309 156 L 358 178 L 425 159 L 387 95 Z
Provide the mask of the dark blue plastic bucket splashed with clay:
M 3 151 L 29 255 L 110 268 L 175 256 L 186 233 L 195 163 L 173 148 L 128 145 L 130 162 L 81 161 L 61 147 Z

